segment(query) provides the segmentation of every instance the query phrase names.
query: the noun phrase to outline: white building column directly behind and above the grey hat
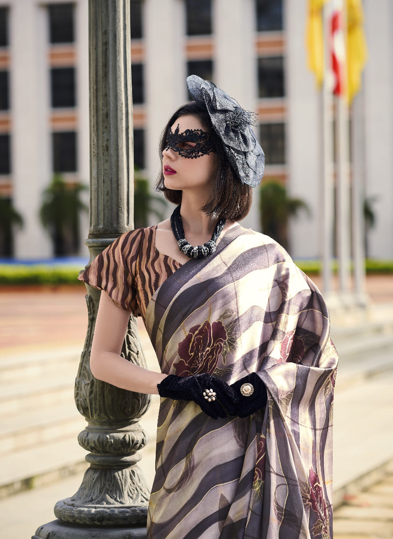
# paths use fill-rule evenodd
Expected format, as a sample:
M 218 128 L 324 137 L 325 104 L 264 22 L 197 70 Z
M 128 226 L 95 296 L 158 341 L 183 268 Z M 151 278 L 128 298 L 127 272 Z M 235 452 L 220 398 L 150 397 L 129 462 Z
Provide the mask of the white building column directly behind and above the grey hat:
M 214 75 L 218 87 L 251 111 L 257 110 L 257 59 L 255 53 L 254 0 L 213 2 Z M 258 128 L 254 127 L 258 136 Z M 259 192 L 253 189 L 253 203 L 242 226 L 260 230 Z

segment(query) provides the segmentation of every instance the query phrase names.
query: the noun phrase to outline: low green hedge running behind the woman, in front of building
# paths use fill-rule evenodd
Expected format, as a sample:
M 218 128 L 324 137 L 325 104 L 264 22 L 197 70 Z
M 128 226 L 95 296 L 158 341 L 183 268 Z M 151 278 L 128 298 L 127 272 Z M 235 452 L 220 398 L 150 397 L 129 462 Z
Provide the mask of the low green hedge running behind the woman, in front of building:
M 297 265 L 307 273 L 320 273 L 319 260 L 297 260 Z M 333 261 L 333 271 L 337 262 Z M 0 285 L 70 285 L 82 284 L 77 280 L 82 267 L 45 266 L 45 265 L 11 265 L 0 264 Z M 393 260 L 366 260 L 367 274 L 393 273 Z

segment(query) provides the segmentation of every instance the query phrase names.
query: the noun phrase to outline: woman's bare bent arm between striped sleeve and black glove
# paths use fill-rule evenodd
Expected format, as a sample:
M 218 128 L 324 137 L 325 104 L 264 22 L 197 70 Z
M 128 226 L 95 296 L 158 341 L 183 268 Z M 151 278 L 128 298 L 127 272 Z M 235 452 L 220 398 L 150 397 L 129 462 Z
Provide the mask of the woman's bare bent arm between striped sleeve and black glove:
M 90 356 L 92 374 L 118 388 L 157 395 L 157 384 L 167 375 L 138 367 L 120 356 L 128 319 L 129 313 L 102 291 Z

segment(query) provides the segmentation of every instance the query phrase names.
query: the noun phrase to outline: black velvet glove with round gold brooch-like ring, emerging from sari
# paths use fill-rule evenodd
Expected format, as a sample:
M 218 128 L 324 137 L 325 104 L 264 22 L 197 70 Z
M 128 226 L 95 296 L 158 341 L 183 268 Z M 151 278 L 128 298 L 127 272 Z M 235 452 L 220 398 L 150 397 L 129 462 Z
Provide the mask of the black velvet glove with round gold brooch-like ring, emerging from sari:
M 246 385 L 245 385 L 246 384 Z M 251 386 L 253 391 L 251 390 Z M 243 393 L 240 388 L 243 386 Z M 267 403 L 267 391 L 265 384 L 261 381 L 256 372 L 245 376 L 238 382 L 231 384 L 230 387 L 239 397 L 239 402 L 235 404 L 235 413 L 229 412 L 232 416 L 247 417 L 257 410 L 264 408 Z

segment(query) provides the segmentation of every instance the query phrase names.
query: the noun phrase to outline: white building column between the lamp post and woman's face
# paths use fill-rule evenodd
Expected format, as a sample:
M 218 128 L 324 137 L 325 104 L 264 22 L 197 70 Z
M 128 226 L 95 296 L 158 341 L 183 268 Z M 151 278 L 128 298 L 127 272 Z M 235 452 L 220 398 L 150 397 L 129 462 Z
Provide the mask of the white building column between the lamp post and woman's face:
M 146 171 L 153 185 L 161 167 L 161 132 L 174 111 L 187 101 L 185 15 L 182 0 L 145 0 L 143 9 Z

